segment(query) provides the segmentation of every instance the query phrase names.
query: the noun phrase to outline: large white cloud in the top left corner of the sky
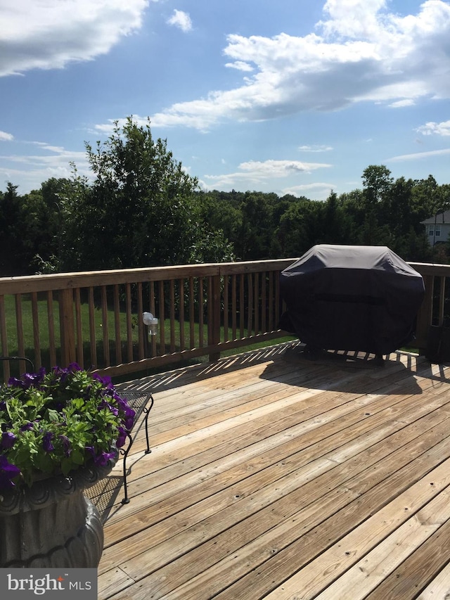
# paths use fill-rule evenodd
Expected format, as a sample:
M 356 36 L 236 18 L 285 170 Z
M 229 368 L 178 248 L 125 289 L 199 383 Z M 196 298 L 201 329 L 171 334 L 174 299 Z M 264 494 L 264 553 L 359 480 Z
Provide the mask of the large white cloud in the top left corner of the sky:
M 0 2 L 0 76 L 105 54 L 141 27 L 148 0 Z

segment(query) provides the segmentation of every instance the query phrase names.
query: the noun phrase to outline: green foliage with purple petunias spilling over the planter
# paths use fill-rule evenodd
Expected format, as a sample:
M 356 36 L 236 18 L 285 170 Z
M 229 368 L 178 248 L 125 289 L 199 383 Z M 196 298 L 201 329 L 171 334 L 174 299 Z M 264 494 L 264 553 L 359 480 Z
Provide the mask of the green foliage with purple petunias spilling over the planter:
M 71 364 L 0 388 L 0 492 L 117 455 L 134 410 L 101 378 Z

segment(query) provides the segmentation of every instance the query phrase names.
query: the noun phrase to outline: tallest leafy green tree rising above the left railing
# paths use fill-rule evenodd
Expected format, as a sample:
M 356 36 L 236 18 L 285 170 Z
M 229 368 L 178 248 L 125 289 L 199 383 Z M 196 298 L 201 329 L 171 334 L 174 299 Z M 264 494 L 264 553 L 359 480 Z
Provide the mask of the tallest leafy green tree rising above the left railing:
M 153 139 L 150 120 L 145 126 L 132 117 L 122 127 L 115 122 L 108 140 L 98 141 L 95 149 L 86 143 L 86 152 L 95 179 L 89 184 L 78 178 L 67 215 L 78 268 L 199 260 L 210 231 L 195 193 L 198 181 L 174 160 L 166 140 Z M 214 244 L 219 251 L 220 236 Z

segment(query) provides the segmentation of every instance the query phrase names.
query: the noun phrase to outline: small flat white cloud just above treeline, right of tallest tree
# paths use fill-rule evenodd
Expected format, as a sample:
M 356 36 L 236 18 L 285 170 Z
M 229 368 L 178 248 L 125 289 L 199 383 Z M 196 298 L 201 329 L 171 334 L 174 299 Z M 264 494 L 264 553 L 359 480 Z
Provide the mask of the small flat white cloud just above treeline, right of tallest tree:
M 241 162 L 239 171 L 221 175 L 204 175 L 205 187 L 224 189 L 226 187 L 242 186 L 248 188 L 264 184 L 265 181 L 292 177 L 297 174 L 311 173 L 314 170 L 331 167 L 323 162 L 300 162 L 299 160 L 249 160 Z

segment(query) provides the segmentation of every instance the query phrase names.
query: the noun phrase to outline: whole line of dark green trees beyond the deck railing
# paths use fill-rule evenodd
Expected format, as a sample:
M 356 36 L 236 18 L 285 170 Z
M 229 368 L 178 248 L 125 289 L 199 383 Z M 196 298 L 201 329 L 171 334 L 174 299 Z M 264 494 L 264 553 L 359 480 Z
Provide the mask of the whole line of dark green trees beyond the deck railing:
M 150 122 L 131 117 L 96 146 L 94 179 L 51 178 L 0 192 L 0 276 L 299 257 L 317 243 L 387 245 L 404 260 L 448 262 L 421 222 L 450 208 L 450 185 L 394 179 L 369 165 L 361 189 L 325 201 L 202 191 Z

